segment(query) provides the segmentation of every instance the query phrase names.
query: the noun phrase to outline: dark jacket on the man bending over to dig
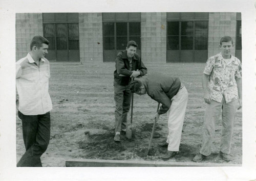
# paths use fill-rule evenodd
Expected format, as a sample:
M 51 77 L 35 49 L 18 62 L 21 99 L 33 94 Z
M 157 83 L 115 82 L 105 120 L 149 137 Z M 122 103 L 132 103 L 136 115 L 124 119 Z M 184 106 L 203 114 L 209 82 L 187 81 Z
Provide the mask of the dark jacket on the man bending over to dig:
M 152 99 L 162 104 L 158 110 L 158 114 L 164 114 L 169 110 L 170 105 L 172 104 L 170 99 L 178 93 L 181 86 L 178 77 L 163 75 L 147 76 L 145 84 L 147 94 Z

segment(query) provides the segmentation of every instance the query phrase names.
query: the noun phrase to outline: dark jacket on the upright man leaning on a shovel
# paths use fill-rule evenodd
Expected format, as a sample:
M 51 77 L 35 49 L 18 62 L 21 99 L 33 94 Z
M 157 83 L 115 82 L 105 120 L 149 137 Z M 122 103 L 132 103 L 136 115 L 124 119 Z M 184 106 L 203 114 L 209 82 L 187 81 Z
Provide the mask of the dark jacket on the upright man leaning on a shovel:
M 141 76 L 147 73 L 147 68 L 144 66 L 138 54 L 135 54 L 133 56 L 132 65 L 132 70 L 139 69 Z M 119 74 L 126 76 L 119 76 Z M 120 51 L 116 57 L 116 70 L 114 71 L 114 81 L 119 85 L 126 86 L 132 80 L 132 78 L 130 78 L 131 74 L 132 71 L 130 70 L 130 63 L 127 58 L 127 51 Z

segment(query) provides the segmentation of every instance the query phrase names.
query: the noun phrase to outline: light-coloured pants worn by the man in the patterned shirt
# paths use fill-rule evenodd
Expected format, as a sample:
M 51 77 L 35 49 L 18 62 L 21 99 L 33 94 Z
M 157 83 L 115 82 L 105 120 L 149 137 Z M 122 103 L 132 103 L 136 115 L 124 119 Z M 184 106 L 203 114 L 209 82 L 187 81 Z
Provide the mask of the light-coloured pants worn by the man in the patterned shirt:
M 215 134 L 215 122 L 219 120 L 221 109 L 223 127 L 220 151 L 226 154 L 230 153 L 237 100 L 226 103 L 225 97 L 223 96 L 222 102 L 211 100 L 210 104 L 206 105 L 203 123 L 203 141 L 200 150 L 200 153 L 204 156 L 209 156 L 211 152 L 212 140 Z

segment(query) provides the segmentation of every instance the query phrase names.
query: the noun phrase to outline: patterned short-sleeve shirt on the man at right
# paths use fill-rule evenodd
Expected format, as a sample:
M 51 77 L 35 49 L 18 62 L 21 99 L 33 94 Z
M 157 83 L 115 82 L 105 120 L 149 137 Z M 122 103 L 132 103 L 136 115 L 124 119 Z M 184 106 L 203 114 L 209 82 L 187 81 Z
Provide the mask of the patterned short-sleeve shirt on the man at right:
M 218 102 L 223 95 L 226 102 L 239 98 L 236 78 L 242 77 L 241 61 L 232 56 L 226 61 L 221 53 L 208 58 L 204 73 L 209 75 L 208 89 L 210 98 Z

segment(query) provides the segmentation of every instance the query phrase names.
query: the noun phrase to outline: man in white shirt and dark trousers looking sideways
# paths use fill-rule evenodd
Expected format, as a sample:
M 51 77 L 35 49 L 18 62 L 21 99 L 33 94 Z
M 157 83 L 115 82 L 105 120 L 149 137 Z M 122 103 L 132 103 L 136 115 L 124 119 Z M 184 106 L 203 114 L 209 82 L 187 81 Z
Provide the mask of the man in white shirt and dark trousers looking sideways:
M 48 93 L 50 66 L 45 58 L 48 45 L 46 38 L 33 37 L 28 55 L 16 62 L 18 117 L 26 148 L 17 167 L 41 167 L 40 157 L 49 144 L 52 101 Z

